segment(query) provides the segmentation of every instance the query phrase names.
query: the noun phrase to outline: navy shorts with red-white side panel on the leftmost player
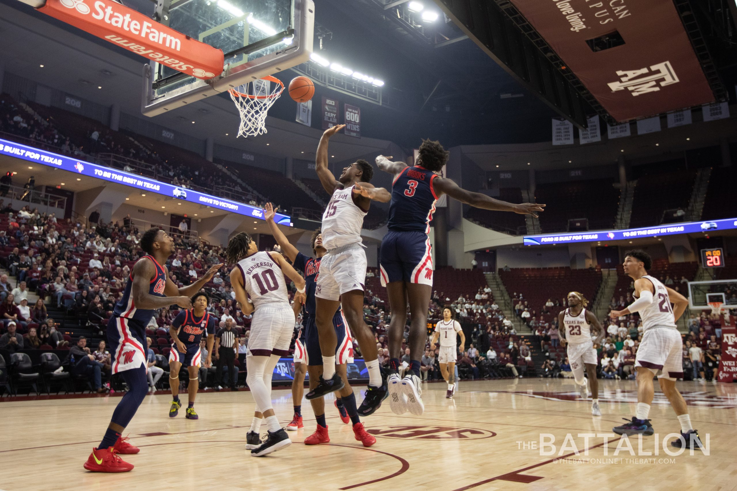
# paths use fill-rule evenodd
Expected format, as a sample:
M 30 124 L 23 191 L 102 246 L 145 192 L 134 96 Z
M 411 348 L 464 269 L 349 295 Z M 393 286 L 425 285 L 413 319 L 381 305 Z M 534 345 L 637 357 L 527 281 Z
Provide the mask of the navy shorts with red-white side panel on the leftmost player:
M 113 353 L 113 373 L 146 367 L 146 326 L 135 319 L 111 317 L 108 348 Z

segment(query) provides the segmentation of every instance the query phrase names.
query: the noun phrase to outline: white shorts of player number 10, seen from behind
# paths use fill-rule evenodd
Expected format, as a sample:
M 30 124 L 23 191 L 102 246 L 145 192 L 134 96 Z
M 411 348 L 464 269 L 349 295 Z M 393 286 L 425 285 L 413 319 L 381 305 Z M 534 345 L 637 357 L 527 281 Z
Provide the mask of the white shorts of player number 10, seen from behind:
M 294 333 L 294 311 L 284 302 L 259 305 L 251 320 L 246 356 L 289 356 Z

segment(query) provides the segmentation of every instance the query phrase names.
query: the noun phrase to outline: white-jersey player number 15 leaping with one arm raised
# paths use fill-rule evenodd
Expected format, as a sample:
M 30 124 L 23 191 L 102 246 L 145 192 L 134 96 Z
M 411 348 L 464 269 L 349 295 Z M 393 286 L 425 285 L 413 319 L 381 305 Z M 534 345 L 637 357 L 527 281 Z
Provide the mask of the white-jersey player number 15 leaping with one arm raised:
M 335 180 L 327 166 L 327 146 L 330 137 L 343 127 L 345 124 L 338 124 L 325 131 L 315 157 L 318 177 L 331 197 L 322 219 L 322 243 L 327 253 L 321 260 L 315 288 L 315 324 L 323 358 L 323 375 L 318 386 L 307 392 L 306 397 L 315 399 L 343 388 L 343 381 L 335 372 L 338 337 L 332 324 L 335 312 L 342 305 L 368 369 L 366 398 L 358 407 L 358 414 L 368 416 L 381 406 L 388 392 L 379 369 L 374 334 L 363 320 L 366 252 L 363 251 L 361 228 L 371 200 L 388 202 L 391 195 L 386 189 L 374 188 L 368 183 L 374 175 L 374 168 L 366 160 L 357 160 L 345 167 Z

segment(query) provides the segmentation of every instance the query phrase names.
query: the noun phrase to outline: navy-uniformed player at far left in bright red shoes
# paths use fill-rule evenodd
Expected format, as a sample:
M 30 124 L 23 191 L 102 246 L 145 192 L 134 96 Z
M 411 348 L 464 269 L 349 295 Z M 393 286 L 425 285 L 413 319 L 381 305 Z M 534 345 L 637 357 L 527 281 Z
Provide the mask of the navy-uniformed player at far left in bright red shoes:
M 133 469 L 116 453 L 138 453 L 139 449 L 121 437 L 133 415 L 136 414 L 148 392 L 146 378 L 146 326 L 157 308 L 179 305 L 192 308 L 189 297 L 198 292 L 220 269 L 215 264 L 203 278 L 184 288 L 177 288 L 169 278 L 167 258 L 174 251 L 174 240 L 164 230 L 156 227 L 146 230 L 141 238 L 141 248 L 146 255 L 133 265 L 122 299 L 116 303 L 108 322 L 108 344 L 113 354 L 112 372 L 117 373 L 128 386 L 128 392 L 113 411 L 105 437 L 85 462 L 84 467 L 93 472 L 122 473 Z

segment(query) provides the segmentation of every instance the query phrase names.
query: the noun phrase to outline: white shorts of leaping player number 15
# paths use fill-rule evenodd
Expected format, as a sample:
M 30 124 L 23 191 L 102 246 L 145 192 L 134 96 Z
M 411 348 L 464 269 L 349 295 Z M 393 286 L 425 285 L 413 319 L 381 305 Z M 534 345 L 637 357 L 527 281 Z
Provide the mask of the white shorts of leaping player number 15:
M 343 293 L 363 290 L 366 266 L 366 252 L 361 244 L 349 244 L 329 251 L 320 261 L 315 297 L 340 300 Z

